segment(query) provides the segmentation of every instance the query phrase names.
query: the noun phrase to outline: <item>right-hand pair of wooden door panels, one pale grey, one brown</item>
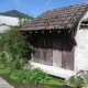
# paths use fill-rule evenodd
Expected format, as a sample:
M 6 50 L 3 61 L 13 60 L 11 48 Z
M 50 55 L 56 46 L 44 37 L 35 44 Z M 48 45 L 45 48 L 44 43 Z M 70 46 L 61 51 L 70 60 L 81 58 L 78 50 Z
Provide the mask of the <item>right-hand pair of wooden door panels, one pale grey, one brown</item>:
M 68 35 L 53 37 L 53 66 L 74 70 L 74 45 Z

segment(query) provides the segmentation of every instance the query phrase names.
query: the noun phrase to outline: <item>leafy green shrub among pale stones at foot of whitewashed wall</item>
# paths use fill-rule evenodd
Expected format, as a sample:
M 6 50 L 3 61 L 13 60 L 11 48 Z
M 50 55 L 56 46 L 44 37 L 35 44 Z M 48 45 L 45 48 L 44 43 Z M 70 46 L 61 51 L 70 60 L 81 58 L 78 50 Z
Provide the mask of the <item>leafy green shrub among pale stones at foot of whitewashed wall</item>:
M 88 82 L 88 73 L 86 70 L 80 70 L 76 75 L 72 76 L 66 84 L 72 87 L 81 88 Z

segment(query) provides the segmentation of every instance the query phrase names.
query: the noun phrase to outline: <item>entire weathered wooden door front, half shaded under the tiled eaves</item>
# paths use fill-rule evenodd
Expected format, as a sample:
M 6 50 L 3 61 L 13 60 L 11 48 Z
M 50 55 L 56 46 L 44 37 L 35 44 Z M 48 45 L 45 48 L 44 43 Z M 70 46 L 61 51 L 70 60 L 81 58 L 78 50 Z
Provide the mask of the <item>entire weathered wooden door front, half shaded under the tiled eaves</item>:
M 69 36 L 40 35 L 34 45 L 34 62 L 74 70 L 74 46 Z

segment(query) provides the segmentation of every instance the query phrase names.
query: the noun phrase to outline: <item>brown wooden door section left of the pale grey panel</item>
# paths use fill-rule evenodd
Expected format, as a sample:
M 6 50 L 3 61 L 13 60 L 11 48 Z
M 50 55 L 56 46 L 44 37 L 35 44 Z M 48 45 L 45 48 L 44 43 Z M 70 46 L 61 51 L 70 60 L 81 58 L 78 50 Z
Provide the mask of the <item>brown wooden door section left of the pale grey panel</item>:
M 34 40 L 35 52 L 33 54 L 33 62 L 53 65 L 53 44 L 51 36 L 40 34 Z

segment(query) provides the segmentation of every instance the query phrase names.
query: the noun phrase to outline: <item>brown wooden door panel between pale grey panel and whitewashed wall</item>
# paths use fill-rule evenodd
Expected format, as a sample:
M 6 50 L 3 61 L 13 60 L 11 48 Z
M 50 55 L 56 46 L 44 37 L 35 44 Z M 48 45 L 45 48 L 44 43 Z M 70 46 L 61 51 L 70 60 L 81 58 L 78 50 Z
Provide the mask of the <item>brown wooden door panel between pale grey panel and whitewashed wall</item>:
M 74 45 L 69 36 L 63 36 L 62 43 L 62 67 L 74 70 Z

